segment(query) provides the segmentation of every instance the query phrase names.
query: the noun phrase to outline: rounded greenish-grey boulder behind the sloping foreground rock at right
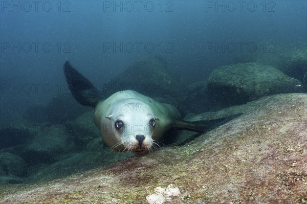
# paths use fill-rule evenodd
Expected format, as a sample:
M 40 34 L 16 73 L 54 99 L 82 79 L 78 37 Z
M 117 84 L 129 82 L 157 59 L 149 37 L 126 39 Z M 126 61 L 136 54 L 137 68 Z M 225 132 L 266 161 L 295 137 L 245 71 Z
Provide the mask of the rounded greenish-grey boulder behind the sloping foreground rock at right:
M 242 63 L 221 66 L 209 76 L 206 93 L 224 106 L 244 104 L 263 96 L 301 92 L 297 79 L 270 65 Z

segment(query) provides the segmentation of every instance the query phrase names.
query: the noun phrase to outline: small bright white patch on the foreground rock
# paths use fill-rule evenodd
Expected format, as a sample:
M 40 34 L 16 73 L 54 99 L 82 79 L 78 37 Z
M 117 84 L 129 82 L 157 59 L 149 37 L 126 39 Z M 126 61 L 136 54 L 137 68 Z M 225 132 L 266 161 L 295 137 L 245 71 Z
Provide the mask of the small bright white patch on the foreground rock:
M 180 191 L 178 187 L 173 188 L 173 185 L 170 184 L 168 187 L 161 188 L 160 186 L 155 189 L 156 193 L 150 194 L 146 196 L 149 204 L 163 204 L 165 200 L 170 201 L 171 196 L 180 195 Z

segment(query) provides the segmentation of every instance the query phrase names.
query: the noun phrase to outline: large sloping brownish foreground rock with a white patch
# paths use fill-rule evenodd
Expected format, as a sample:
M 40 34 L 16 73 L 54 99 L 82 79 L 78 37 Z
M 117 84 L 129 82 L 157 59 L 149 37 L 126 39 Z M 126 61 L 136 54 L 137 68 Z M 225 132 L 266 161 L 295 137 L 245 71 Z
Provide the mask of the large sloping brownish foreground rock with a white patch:
M 183 146 L 47 183 L 1 186 L 0 203 L 148 204 L 153 194 L 165 204 L 304 203 L 307 95 L 262 97 L 193 120 L 238 112 L 244 115 Z M 180 195 L 168 201 L 168 187 Z

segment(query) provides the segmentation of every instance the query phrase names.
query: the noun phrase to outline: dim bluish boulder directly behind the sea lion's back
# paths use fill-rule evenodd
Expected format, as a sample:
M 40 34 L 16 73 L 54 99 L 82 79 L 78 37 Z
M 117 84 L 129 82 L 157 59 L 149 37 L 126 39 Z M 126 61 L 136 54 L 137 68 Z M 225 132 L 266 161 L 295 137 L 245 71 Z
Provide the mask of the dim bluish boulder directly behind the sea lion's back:
M 106 96 L 119 90 L 133 89 L 149 97 L 178 95 L 179 77 L 174 76 L 168 63 L 160 56 L 143 57 L 107 83 Z

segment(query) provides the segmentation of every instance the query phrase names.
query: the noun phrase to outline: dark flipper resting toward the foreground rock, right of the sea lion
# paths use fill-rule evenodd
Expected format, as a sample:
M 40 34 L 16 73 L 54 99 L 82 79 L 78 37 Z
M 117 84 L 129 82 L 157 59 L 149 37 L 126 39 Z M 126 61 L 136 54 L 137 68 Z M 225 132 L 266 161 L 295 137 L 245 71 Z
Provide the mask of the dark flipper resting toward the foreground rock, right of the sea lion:
M 174 124 L 174 129 L 182 129 L 182 130 L 190 130 L 195 132 L 208 132 L 215 127 L 218 127 L 220 125 L 223 125 L 224 123 L 227 123 L 228 121 L 231 121 L 243 114 L 235 114 L 230 115 L 224 118 L 218 118 L 214 120 L 206 120 L 206 121 L 177 121 Z

